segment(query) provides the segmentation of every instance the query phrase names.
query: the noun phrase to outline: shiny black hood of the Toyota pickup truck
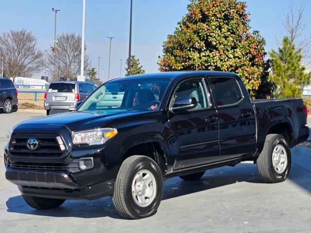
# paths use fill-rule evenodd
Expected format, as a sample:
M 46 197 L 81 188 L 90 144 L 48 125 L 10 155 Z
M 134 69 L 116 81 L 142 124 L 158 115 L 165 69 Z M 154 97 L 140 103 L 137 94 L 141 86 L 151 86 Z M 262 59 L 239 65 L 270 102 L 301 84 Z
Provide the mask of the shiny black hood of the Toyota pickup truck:
M 42 128 L 57 129 L 58 126 L 66 126 L 70 131 L 79 131 L 98 127 L 112 127 L 116 123 L 121 123 L 122 118 L 137 121 L 139 119 L 137 116 L 153 112 L 152 110 L 107 110 L 102 114 L 69 112 L 25 120 L 16 125 L 14 130 L 29 127 L 38 128 L 38 130 Z

